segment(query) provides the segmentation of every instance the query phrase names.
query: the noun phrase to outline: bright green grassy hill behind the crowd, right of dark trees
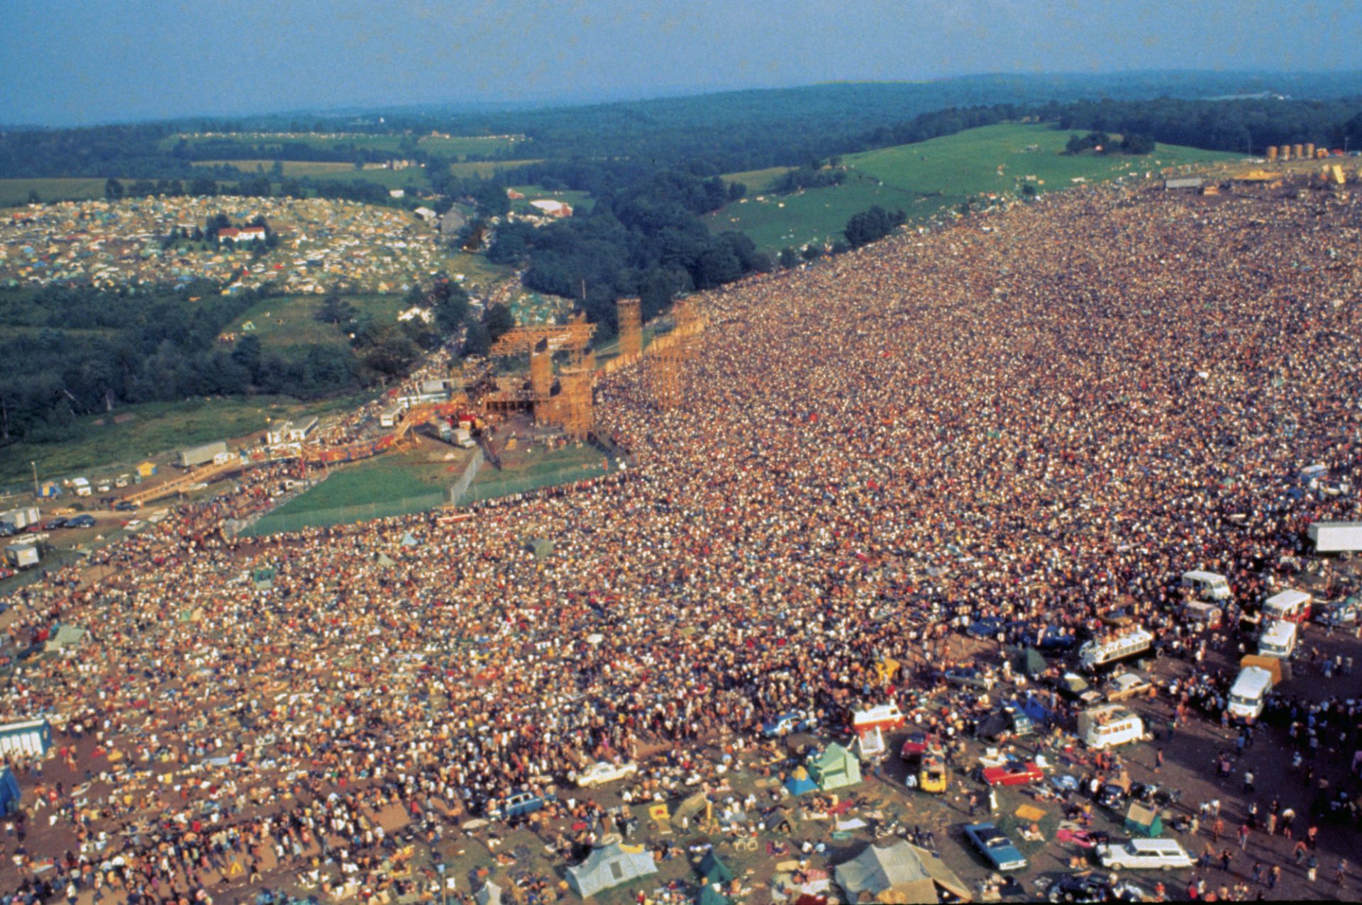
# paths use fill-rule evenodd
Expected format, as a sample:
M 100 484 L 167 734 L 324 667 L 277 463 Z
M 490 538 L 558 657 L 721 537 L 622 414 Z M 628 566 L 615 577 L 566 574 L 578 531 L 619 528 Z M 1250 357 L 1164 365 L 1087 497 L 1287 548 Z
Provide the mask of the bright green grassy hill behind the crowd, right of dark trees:
M 1139 158 L 1061 155 L 1069 135 L 1047 125 L 989 125 L 930 142 L 851 154 L 842 158 L 847 167 L 843 185 L 767 195 L 760 201 L 746 197 L 706 219 L 715 233 L 740 230 L 764 249 L 798 248 L 840 238 L 847 219 L 873 204 L 902 208 L 910 220 L 926 219 L 966 197 L 989 192 L 1015 196 L 1028 176 L 1035 177 L 1031 184 L 1038 192 L 1047 192 L 1071 188 L 1075 180 L 1095 182 L 1239 159 L 1235 154 L 1170 144 Z M 726 178 L 753 177 L 753 173 L 734 173 Z

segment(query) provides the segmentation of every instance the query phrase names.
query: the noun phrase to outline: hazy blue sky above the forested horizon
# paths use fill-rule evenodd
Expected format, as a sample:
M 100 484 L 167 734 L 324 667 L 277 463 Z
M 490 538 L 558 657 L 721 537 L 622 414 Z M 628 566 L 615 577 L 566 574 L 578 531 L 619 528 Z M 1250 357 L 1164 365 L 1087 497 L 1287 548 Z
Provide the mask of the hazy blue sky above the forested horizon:
M 0 122 L 1362 68 L 1358 0 L 4 0 Z

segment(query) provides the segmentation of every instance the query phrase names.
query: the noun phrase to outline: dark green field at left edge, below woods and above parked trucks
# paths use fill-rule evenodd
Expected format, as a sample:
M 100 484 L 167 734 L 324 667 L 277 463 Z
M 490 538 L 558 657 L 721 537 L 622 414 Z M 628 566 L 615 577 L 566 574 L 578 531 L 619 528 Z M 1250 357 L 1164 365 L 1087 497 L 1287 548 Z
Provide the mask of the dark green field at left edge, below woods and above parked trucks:
M 301 403 L 286 396 L 256 396 L 123 406 L 112 415 L 76 419 L 71 435 L 61 444 L 18 442 L 4 446 L 0 486 L 31 489 L 30 461 L 38 464 L 38 476 L 44 480 L 75 475 L 93 480 L 129 471 L 131 465 L 144 459 L 174 449 L 264 431 L 266 422 L 271 419 L 340 411 L 364 399 L 350 396 Z

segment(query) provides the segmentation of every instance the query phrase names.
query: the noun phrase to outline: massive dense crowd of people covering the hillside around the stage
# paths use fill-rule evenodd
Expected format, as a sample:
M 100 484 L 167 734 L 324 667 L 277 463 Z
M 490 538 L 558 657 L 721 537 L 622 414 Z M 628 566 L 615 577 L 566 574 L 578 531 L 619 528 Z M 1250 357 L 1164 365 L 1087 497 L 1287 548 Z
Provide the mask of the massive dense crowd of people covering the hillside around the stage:
M 1169 637 L 1186 569 L 1258 597 L 1309 521 L 1359 514 L 1298 476 L 1362 449 L 1358 215 L 1046 196 L 708 295 L 680 410 L 637 372 L 597 391 L 622 475 L 264 542 L 212 531 L 251 487 L 183 510 L 14 600 L 15 641 L 90 630 L 7 682 L 91 765 L 44 789 L 76 853 L 29 857 L 155 901 L 222 859 L 301 870 L 330 821 L 353 867 L 365 811 L 485 814 L 644 746 L 844 721 L 883 657 L 947 665 L 957 615 Z

